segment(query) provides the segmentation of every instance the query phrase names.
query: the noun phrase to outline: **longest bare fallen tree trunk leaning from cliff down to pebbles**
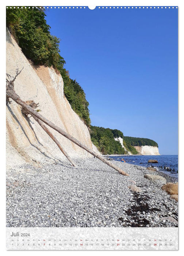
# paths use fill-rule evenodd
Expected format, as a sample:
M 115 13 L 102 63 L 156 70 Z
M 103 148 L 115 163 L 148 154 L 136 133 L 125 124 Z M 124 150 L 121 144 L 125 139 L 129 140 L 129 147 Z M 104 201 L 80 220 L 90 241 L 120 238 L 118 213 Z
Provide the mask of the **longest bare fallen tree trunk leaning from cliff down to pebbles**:
M 18 74 L 20 74 L 21 71 L 16 72 L 16 76 Z M 13 81 L 13 82 L 12 82 Z M 120 169 L 118 166 L 113 165 L 112 163 L 108 162 L 105 158 L 101 157 L 101 155 L 97 154 L 95 151 L 89 149 L 88 147 L 86 147 L 85 145 L 83 145 L 80 141 L 78 141 L 77 139 L 73 138 L 71 135 L 69 135 L 68 133 L 66 133 L 63 129 L 61 129 L 60 127 L 58 127 L 57 125 L 53 124 L 52 122 L 50 122 L 49 120 L 47 120 L 45 117 L 43 117 L 41 114 L 39 114 L 37 111 L 35 111 L 34 109 L 32 109 L 29 105 L 27 105 L 24 101 L 22 101 L 22 99 L 20 99 L 19 95 L 15 93 L 14 90 L 14 81 L 15 78 L 13 80 L 8 80 L 7 84 L 6 84 L 6 96 L 7 98 L 11 98 L 13 99 L 16 103 L 18 103 L 20 106 L 22 106 L 23 109 L 25 109 L 27 111 L 27 113 L 31 114 L 32 117 L 36 117 L 39 120 L 41 120 L 43 123 L 47 124 L 48 126 L 50 126 L 51 128 L 53 128 L 55 131 L 59 132 L 61 135 L 65 136 L 67 139 L 69 139 L 70 141 L 72 141 L 73 143 L 75 143 L 76 145 L 78 145 L 79 147 L 83 148 L 84 150 L 86 150 L 88 153 L 90 153 L 91 155 L 95 156 L 96 158 L 100 159 L 102 162 L 106 163 L 108 166 L 112 167 L 113 169 L 115 169 L 117 172 L 119 172 L 120 174 L 123 174 L 125 176 L 129 176 L 129 174 L 127 174 L 126 172 L 124 172 L 122 169 Z

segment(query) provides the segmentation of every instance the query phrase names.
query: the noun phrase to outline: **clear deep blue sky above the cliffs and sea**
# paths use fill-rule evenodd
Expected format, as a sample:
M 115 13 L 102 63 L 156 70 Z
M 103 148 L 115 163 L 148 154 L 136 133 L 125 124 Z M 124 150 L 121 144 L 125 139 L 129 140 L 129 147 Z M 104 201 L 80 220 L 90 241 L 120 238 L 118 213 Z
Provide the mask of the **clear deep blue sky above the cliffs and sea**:
M 177 154 L 177 9 L 49 9 L 91 124 L 153 139 Z

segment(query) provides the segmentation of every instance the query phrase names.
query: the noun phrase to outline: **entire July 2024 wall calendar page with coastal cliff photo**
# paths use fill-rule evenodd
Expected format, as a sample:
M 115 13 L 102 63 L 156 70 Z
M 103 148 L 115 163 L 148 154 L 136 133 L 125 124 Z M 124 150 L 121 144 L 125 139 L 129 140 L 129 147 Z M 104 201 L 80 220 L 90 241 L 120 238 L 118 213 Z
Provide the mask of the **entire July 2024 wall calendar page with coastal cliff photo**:
M 7 250 L 178 250 L 178 7 L 6 7 Z

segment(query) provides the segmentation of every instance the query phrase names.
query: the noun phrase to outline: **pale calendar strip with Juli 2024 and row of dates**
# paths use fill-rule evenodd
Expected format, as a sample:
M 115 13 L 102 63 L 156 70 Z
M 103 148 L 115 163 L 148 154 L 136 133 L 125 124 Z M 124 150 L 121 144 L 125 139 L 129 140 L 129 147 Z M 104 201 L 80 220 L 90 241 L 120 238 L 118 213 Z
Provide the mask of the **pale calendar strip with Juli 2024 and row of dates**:
M 178 228 L 7 228 L 7 250 L 177 250 Z

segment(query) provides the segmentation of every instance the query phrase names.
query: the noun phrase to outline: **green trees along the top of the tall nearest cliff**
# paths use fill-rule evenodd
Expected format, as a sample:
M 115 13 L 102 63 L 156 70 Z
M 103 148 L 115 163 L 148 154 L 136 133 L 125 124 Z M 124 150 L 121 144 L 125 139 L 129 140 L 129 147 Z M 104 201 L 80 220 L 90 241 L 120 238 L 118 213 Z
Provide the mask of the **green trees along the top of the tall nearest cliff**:
M 89 103 L 81 86 L 69 77 L 64 68 L 65 60 L 60 55 L 60 39 L 50 34 L 50 26 L 45 20 L 43 8 L 8 7 L 7 27 L 14 35 L 22 52 L 35 65 L 53 67 L 60 72 L 64 80 L 64 94 L 73 110 L 89 127 Z M 19 67 L 21 68 L 21 67 Z

